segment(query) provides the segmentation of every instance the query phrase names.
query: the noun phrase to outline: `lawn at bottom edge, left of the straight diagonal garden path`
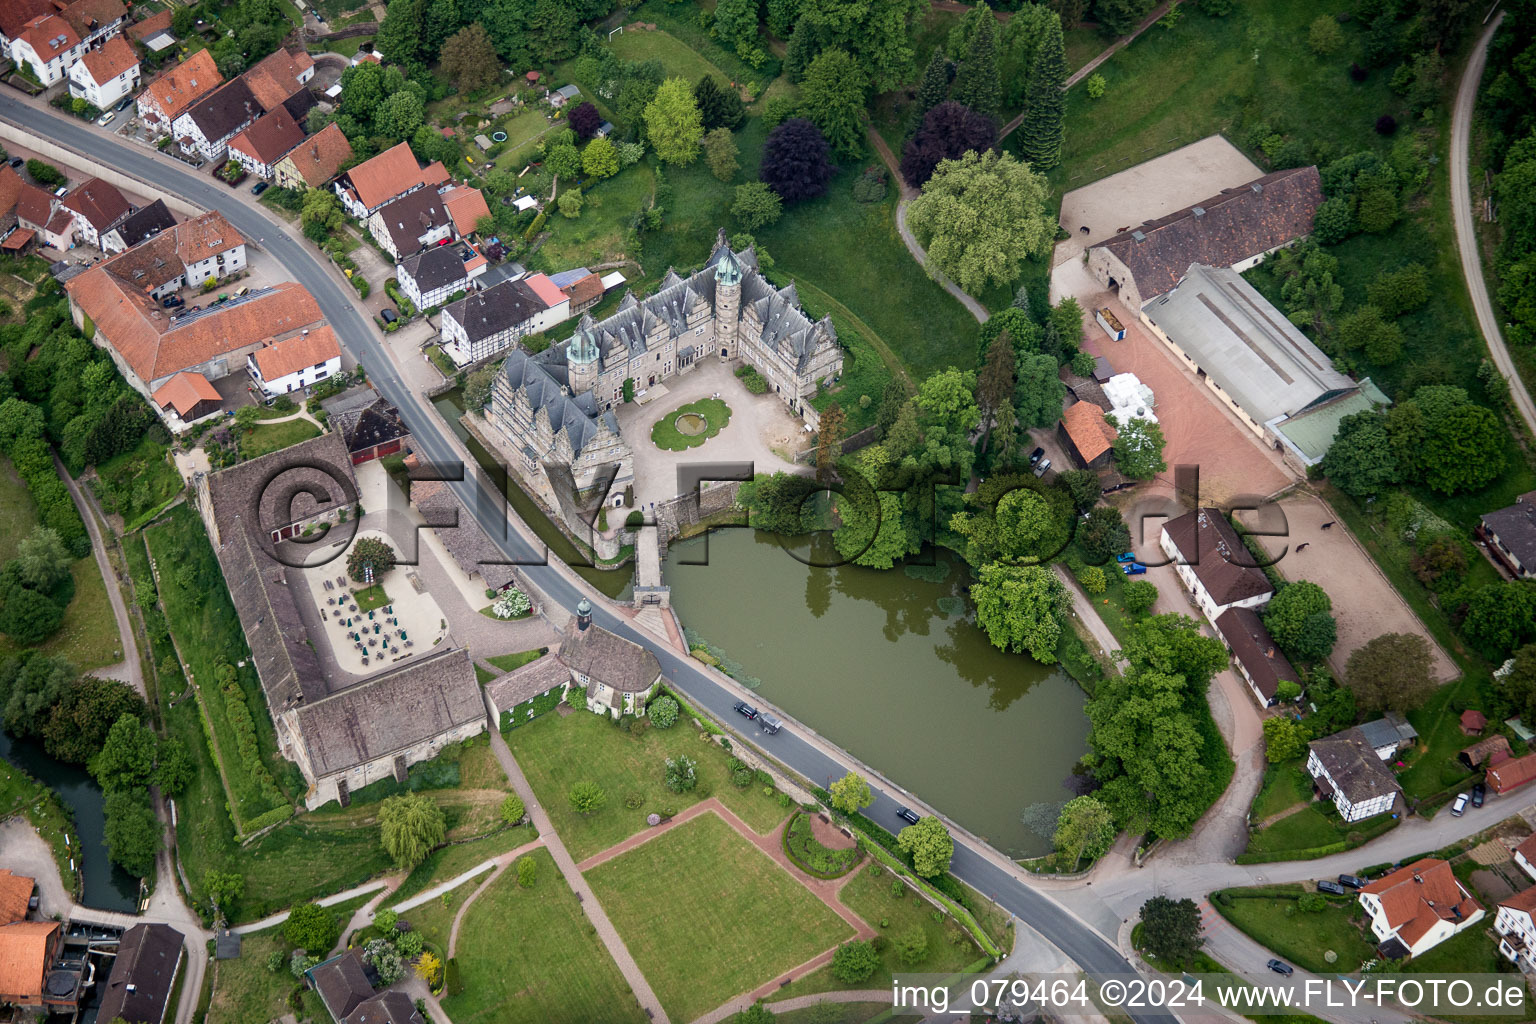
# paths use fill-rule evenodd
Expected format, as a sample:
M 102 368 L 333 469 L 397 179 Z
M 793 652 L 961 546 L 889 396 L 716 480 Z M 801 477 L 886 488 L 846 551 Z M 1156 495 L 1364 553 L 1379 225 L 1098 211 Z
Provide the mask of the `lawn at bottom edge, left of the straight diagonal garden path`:
M 645 1015 L 553 858 L 542 849 L 531 857 L 538 874 L 530 889 L 518 886 L 516 869 L 507 869 L 465 912 L 456 950 L 464 992 L 442 1001 L 444 1013 L 462 1024 L 642 1024 Z M 682 952 L 684 963 L 697 956 Z

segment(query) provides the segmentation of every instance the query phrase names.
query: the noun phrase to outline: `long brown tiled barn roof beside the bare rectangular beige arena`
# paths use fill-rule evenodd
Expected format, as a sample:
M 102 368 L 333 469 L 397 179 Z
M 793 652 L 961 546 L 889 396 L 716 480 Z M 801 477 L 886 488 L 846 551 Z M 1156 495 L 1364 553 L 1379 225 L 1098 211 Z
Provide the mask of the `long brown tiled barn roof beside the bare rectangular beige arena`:
M 1178 284 L 1192 263 L 1230 267 L 1312 233 L 1321 204 L 1318 169 L 1290 167 L 1144 221 L 1095 249 L 1107 249 L 1126 264 L 1147 302 Z

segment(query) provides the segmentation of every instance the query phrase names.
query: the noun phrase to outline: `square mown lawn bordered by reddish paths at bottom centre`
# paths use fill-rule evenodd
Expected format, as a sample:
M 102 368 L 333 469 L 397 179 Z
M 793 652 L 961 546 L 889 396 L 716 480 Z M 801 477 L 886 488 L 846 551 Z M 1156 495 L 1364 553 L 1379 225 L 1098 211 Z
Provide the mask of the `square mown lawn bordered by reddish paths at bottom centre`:
M 685 884 L 657 884 L 659 880 Z M 851 930 L 716 815 L 587 872 L 668 1016 L 691 1021 Z

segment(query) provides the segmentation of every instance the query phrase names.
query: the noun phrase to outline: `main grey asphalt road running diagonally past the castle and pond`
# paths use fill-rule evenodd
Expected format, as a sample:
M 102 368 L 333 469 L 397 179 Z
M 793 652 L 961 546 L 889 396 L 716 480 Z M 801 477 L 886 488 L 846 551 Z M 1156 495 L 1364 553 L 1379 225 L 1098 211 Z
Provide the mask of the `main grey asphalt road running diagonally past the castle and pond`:
M 157 155 L 151 155 L 147 150 L 131 143 L 121 143 L 117 137 L 94 126 L 63 115 L 55 117 L 51 112 L 28 106 L 3 94 L 0 94 L 0 117 L 78 152 L 91 154 L 95 160 L 111 161 L 112 166 L 124 173 L 143 178 L 166 192 L 180 195 L 187 203 L 204 209 L 218 209 L 247 239 L 264 238 L 263 249 L 289 267 L 293 276 L 315 295 L 315 301 L 341 338 L 341 342 L 362 362 L 373 385 L 401 410 L 422 457 L 432 462 L 458 461 L 458 451 L 449 441 L 436 411 L 427 408 L 401 381 L 381 345 L 375 327 L 364 319 L 353 306 L 353 296 L 344 290 L 349 286 L 343 286 L 316 259 L 307 244 L 296 241 L 263 212 L 240 200 L 232 200 L 229 190 L 224 186 L 215 186 L 210 178 L 183 169 L 167 158 L 157 158 Z M 547 553 L 535 551 L 516 530 L 505 530 L 504 524 L 487 520 L 484 511 L 501 508 L 504 502 L 492 496 L 490 488 L 481 479 L 478 467 L 468 468 L 465 481 L 452 484 L 452 487 L 464 505 L 475 511 L 482 527 L 485 527 L 487 534 L 508 557 L 515 562 L 530 563 L 524 567 L 524 571 L 535 586 L 542 590 L 550 600 L 565 608 L 574 608 L 576 602 L 584 596 L 591 597 L 596 605 L 593 617 L 598 623 L 641 643 L 656 654 L 667 679 L 691 702 L 696 702 L 720 722 L 731 722 L 736 717 L 733 705 L 737 695 L 703 672 L 696 662 L 679 657 L 670 646 L 657 643 L 648 634 L 633 629 L 627 620 L 616 617 L 605 608 L 601 594 L 587 593 L 553 565 L 531 565 L 533 562 L 542 562 Z M 511 513 L 508 511 L 507 514 Z M 831 758 L 817 745 L 797 734 L 797 726 L 788 715 L 777 714 L 788 725 L 777 735 L 757 738 L 756 742 L 762 749 L 806 778 L 820 783 L 840 777 L 848 771 L 846 765 Z M 926 751 L 925 755 L 943 757 L 945 754 L 943 751 L 932 749 Z M 1023 758 L 1020 758 L 1014 771 L 1028 771 Z M 866 814 L 876 821 L 885 823 L 891 831 L 895 831 L 900 824 L 895 818 L 899 801 L 876 783 L 877 780 L 871 780 L 876 801 Z M 1055 900 L 1031 889 L 1012 872 L 988 858 L 978 849 L 971 847 L 963 837 L 957 837 L 955 840 L 951 870 L 955 877 L 992 897 L 1000 906 L 1040 932 L 1083 970 L 1106 975 L 1134 973 L 1134 969 L 1120 952 L 1101 935 L 1087 927 Z M 1167 1016 L 1135 1013 L 1132 1019 L 1140 1024 L 1141 1021 L 1167 1019 Z

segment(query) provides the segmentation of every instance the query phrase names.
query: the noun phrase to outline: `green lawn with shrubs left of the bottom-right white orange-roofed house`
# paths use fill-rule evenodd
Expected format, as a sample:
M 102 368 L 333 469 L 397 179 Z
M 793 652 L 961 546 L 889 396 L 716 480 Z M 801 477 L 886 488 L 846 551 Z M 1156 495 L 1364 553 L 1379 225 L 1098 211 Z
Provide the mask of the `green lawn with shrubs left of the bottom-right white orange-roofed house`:
M 1301 886 L 1260 886 L 1223 889 L 1210 895 L 1210 904 L 1240 932 L 1303 970 L 1352 973 L 1376 955 L 1364 930 L 1366 912 L 1352 897 L 1330 900 Z

